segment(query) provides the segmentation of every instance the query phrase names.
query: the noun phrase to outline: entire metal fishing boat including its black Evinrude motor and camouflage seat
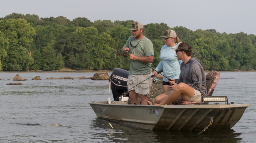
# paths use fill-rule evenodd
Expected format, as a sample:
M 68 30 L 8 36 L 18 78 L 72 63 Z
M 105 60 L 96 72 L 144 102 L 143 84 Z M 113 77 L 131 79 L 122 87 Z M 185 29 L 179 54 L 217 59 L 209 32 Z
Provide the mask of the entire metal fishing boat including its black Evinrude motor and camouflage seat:
M 218 72 L 206 75 L 207 97 L 201 103 L 177 100 L 176 105 L 128 105 L 126 99 L 128 72 L 115 68 L 109 81 L 114 99 L 89 103 L 99 118 L 149 130 L 214 130 L 232 128 L 243 116 L 248 104 L 230 104 L 226 96 L 211 96 L 219 78 Z M 119 96 L 121 96 L 119 98 Z M 117 101 L 117 100 L 120 101 Z M 208 104 L 215 102 L 216 105 Z M 218 104 L 225 102 L 225 104 Z M 104 112 L 103 112 L 104 111 Z

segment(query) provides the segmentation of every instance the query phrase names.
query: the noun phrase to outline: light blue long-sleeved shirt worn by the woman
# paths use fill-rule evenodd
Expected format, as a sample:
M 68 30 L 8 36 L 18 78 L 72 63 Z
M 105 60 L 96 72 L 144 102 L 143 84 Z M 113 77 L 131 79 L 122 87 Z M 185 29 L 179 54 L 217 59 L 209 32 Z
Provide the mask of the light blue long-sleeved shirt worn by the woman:
M 176 46 L 170 48 L 167 45 L 162 46 L 160 51 L 160 59 L 161 62 L 156 67 L 156 71 L 164 70 L 164 76 L 168 77 L 169 79 L 179 79 L 179 75 L 181 73 L 181 60 L 177 59 L 177 55 L 175 50 L 172 50 Z M 168 79 L 164 77 L 163 81 L 168 82 Z

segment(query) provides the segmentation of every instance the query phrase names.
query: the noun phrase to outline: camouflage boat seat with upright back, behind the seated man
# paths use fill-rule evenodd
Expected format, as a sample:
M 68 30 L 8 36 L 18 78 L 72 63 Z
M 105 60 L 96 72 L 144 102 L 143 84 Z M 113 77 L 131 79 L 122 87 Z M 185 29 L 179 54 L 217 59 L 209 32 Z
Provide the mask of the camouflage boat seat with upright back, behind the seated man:
M 220 77 L 219 72 L 209 72 L 207 75 L 205 75 L 206 78 L 206 88 L 207 88 L 207 96 L 213 95 L 213 91 L 218 83 L 218 79 Z M 192 102 L 192 101 L 186 101 L 186 100 L 176 100 L 172 104 L 173 105 L 195 105 L 199 104 L 201 102 Z M 208 103 L 207 103 L 208 104 Z

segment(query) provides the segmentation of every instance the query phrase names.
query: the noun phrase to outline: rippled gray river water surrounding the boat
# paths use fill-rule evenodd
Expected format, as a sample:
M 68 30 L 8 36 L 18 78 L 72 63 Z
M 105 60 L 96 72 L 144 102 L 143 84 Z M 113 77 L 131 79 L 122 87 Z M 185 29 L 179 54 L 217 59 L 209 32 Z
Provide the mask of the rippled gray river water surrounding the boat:
M 213 96 L 248 103 L 240 121 L 230 130 L 152 131 L 98 119 L 88 103 L 107 101 L 108 81 L 90 79 L 45 80 L 48 77 L 92 77 L 94 73 L 19 72 L 23 85 L 6 85 L 17 72 L 0 72 L 0 142 L 111 142 L 111 143 L 247 143 L 256 140 L 256 72 L 221 72 Z M 111 73 L 109 73 L 110 75 Z M 31 79 L 40 76 L 42 80 Z M 11 81 L 7 81 L 11 79 Z M 60 123 L 62 127 L 53 127 Z

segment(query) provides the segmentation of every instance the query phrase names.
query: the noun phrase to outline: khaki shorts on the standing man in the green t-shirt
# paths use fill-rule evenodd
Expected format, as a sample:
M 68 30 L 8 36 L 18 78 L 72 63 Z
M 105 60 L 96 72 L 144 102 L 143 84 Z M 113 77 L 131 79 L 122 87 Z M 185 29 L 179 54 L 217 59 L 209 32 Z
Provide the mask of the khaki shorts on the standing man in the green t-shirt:
M 130 89 L 129 91 L 135 90 L 135 92 L 137 94 L 148 95 L 151 84 L 152 84 L 152 78 L 149 78 L 151 75 L 152 75 L 152 73 L 149 73 L 147 75 L 129 75 L 128 82 L 127 82 L 128 90 L 129 89 Z M 147 78 L 149 78 L 149 79 L 144 81 Z M 142 81 L 144 81 L 144 82 L 142 82 Z M 139 84 L 139 83 L 141 83 L 141 84 Z M 139 85 L 137 85 L 137 84 L 139 84 Z M 134 87 L 134 88 L 132 88 L 132 87 Z

